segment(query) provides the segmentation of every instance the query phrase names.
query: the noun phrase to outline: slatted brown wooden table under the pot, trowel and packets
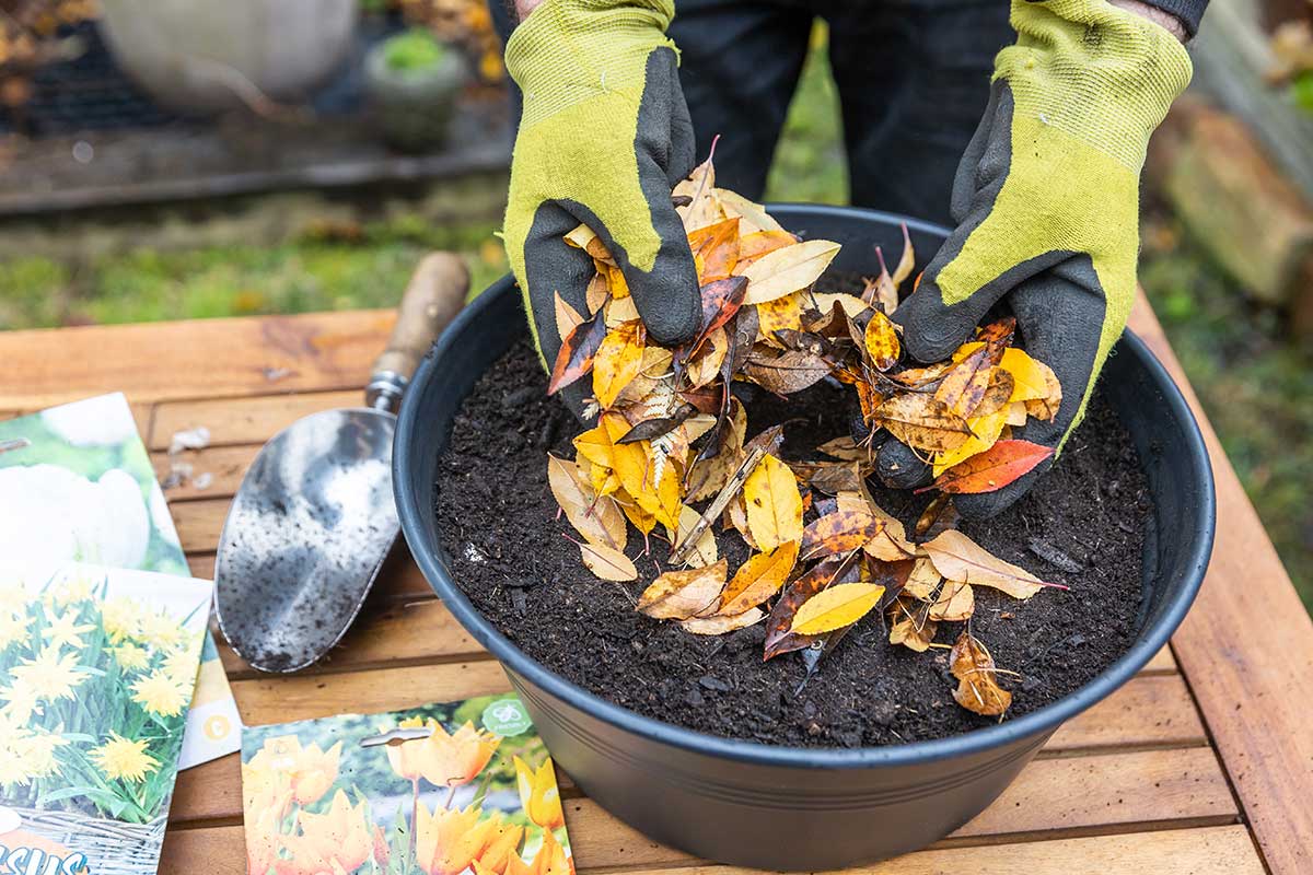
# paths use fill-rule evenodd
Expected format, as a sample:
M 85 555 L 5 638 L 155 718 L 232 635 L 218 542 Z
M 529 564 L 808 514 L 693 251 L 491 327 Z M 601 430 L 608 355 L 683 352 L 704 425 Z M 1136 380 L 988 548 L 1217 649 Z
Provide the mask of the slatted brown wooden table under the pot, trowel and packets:
M 122 390 L 161 471 L 175 432 L 210 429 L 210 447 L 188 460 L 213 484 L 169 495 L 192 569 L 206 577 L 255 453 L 306 413 L 358 404 L 390 324 L 387 312 L 351 312 L 0 333 L 0 416 Z M 1144 302 L 1132 324 L 1184 384 Z M 1313 623 L 1212 429 L 1204 432 L 1217 475 L 1217 547 L 1170 652 L 1060 729 L 973 823 L 871 871 L 1313 872 Z M 248 724 L 508 689 L 404 547 L 320 665 L 269 677 L 231 652 L 225 664 Z M 730 875 L 655 845 L 563 783 L 580 870 Z M 235 754 L 183 773 L 160 871 L 242 872 L 240 799 Z

